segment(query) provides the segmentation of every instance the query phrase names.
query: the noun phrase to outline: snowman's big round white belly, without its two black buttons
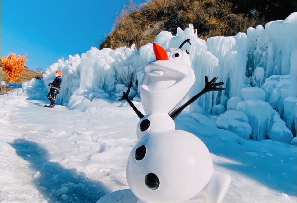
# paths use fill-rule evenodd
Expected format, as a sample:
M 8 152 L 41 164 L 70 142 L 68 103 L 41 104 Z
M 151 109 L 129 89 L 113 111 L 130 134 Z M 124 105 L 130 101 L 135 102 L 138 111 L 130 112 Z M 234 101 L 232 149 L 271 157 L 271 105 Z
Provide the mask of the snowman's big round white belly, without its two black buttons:
M 136 160 L 141 145 L 145 156 Z M 180 202 L 194 197 L 210 180 L 213 163 L 204 143 L 191 133 L 174 130 L 145 135 L 133 147 L 126 169 L 132 192 L 145 202 Z M 159 185 L 150 189 L 145 183 L 155 174 Z

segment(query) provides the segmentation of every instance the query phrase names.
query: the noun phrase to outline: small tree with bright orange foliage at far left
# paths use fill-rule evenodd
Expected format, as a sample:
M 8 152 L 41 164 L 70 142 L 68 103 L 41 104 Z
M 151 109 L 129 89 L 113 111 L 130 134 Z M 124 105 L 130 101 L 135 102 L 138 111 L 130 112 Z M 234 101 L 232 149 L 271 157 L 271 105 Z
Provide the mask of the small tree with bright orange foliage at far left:
M 15 53 L 8 54 L 7 58 L 0 58 L 1 70 L 6 73 L 9 83 L 14 83 L 20 74 L 26 74 L 23 67 L 26 65 L 25 61 L 28 61 L 27 58 L 27 54 L 25 56 L 16 56 Z

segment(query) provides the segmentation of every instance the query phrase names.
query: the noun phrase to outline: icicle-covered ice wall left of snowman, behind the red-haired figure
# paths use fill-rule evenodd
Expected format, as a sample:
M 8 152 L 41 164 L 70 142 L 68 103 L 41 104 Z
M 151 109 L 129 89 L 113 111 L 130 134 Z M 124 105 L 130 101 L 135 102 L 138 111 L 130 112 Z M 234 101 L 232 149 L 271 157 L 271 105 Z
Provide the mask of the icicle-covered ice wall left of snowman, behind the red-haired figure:
M 51 87 L 47 84 L 55 79 L 57 70 L 62 71 L 62 84 L 56 103 L 68 105 L 70 97 L 79 88 L 91 91 L 93 94 L 96 94 L 96 88 L 100 88 L 113 98 L 116 97 L 115 86 L 117 84 L 132 85 L 137 90 L 139 67 L 139 51 L 134 46 L 120 47 L 116 50 L 109 48 L 99 50 L 92 47 L 87 53 L 82 54 L 81 58 L 77 54 L 69 55 L 69 60 L 59 59 L 58 63 L 46 69 L 43 79 L 46 92 L 48 92 Z M 71 103 L 75 102 L 71 101 Z

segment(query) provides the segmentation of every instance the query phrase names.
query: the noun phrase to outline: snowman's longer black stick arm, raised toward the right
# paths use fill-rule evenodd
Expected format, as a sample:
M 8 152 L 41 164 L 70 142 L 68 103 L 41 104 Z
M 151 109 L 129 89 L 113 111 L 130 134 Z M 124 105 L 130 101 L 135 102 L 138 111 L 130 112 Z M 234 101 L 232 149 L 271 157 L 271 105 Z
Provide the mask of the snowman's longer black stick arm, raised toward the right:
M 203 94 L 205 94 L 207 92 L 210 92 L 210 91 L 222 91 L 222 90 L 224 90 L 225 88 L 220 88 L 220 87 L 217 88 L 216 87 L 216 86 L 220 86 L 220 85 L 224 84 L 224 82 L 214 83 L 217 79 L 218 79 L 218 77 L 214 77 L 209 82 L 207 76 L 205 76 L 205 86 L 202 89 L 202 91 L 199 92 L 197 95 L 193 96 L 190 100 L 188 100 L 186 103 L 184 103 L 181 107 L 179 107 L 178 109 L 175 109 L 174 111 L 172 111 L 172 113 L 169 114 L 169 116 L 174 120 L 182 112 L 182 110 L 184 110 L 187 106 L 189 106 L 191 103 L 196 101 Z

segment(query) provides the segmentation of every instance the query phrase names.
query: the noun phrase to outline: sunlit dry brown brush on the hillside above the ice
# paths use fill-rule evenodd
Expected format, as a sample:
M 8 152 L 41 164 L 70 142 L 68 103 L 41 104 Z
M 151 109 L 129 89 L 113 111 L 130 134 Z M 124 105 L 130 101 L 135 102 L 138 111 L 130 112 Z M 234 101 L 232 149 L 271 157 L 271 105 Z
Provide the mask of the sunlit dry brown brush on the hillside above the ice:
M 265 18 L 258 13 L 233 11 L 232 3 L 226 0 L 153 0 L 142 5 L 130 1 L 115 19 L 109 36 L 101 38 L 100 49 L 130 47 L 133 43 L 139 48 L 163 30 L 176 34 L 177 27 L 185 29 L 190 23 L 201 39 L 236 35 L 258 24 L 265 26 Z

